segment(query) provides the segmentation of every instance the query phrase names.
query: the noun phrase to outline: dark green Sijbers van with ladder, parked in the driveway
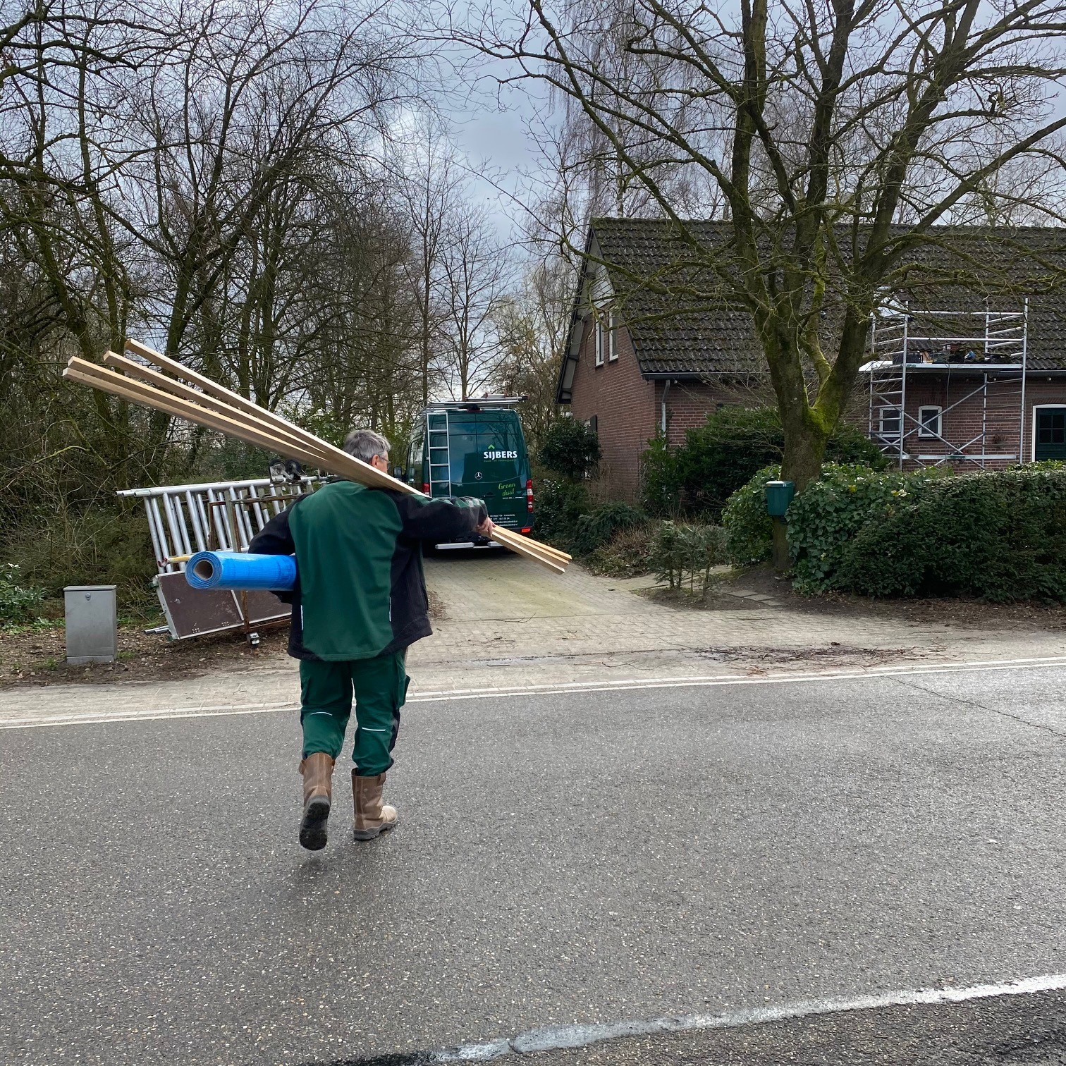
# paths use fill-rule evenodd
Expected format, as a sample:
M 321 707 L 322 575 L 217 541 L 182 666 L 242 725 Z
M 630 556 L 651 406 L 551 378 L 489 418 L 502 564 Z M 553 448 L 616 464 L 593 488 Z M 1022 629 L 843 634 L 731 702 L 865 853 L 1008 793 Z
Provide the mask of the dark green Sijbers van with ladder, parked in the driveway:
M 533 481 L 515 409 L 519 403 L 520 399 L 487 397 L 431 404 L 411 434 L 407 484 L 427 496 L 480 497 L 498 526 L 531 533 Z M 462 545 L 484 547 L 487 543 L 478 537 Z

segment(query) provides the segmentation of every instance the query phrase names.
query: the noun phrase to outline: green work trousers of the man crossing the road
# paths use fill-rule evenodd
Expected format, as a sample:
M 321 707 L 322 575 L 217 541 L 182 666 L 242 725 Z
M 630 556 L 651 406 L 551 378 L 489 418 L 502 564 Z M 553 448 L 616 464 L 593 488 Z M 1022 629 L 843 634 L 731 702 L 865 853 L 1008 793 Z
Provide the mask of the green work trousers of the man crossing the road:
M 410 678 L 405 651 L 375 659 L 300 663 L 300 723 L 304 758 L 325 752 L 336 759 L 344 746 L 344 730 L 355 695 L 355 745 L 352 758 L 360 777 L 376 777 L 392 765 L 392 747 L 400 731 L 400 708 Z

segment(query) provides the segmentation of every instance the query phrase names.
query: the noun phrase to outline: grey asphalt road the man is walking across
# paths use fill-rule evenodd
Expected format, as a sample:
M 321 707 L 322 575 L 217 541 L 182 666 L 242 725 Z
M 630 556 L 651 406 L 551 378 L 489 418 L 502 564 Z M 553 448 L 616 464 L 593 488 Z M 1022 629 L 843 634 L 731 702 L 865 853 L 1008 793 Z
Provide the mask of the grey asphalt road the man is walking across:
M 415 704 L 401 826 L 346 839 L 341 775 L 317 855 L 289 714 L 0 731 L 2 1061 L 333 1063 L 1063 972 L 1064 692 L 1040 667 Z M 718 1061 L 649 1054 L 617 1061 Z

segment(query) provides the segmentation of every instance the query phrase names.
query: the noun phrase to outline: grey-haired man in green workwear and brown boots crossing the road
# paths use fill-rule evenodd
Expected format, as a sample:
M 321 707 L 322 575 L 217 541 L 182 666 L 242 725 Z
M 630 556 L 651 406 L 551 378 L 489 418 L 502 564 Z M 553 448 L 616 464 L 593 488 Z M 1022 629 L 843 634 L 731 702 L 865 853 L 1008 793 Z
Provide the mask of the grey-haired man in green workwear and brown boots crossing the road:
M 349 434 L 344 451 L 388 473 L 389 442 L 370 430 Z M 409 678 L 407 647 L 432 632 L 422 542 L 480 533 L 492 522 L 472 498 L 430 500 L 334 481 L 263 527 L 251 552 L 296 556 L 289 655 L 298 659 L 304 730 L 304 812 L 300 842 L 326 843 L 333 770 L 355 695 L 352 795 L 356 840 L 397 823 L 382 804 Z

